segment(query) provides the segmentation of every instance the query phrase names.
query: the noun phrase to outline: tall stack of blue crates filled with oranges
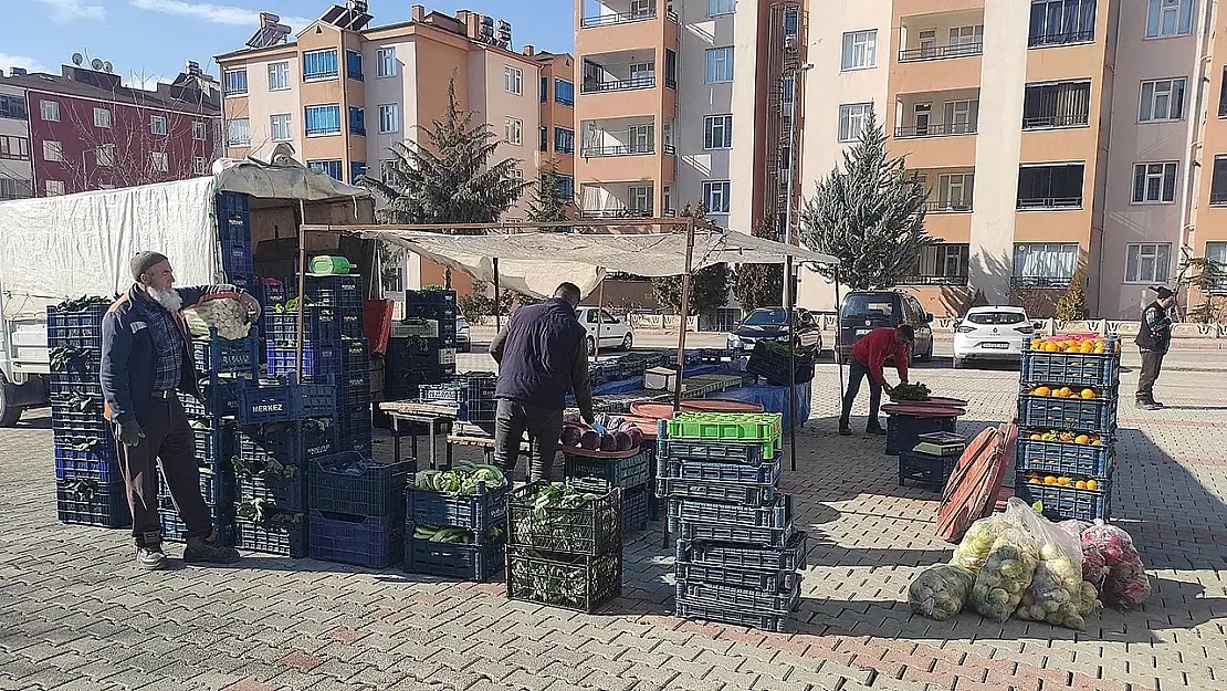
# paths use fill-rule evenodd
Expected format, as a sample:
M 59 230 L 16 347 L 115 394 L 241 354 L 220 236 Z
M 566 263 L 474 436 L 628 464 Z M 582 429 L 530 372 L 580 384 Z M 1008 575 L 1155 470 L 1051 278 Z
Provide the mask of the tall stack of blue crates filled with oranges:
M 1054 519 L 1110 518 L 1119 389 L 1115 335 L 1028 344 L 1015 452 L 1015 493 L 1021 500 L 1040 502 Z

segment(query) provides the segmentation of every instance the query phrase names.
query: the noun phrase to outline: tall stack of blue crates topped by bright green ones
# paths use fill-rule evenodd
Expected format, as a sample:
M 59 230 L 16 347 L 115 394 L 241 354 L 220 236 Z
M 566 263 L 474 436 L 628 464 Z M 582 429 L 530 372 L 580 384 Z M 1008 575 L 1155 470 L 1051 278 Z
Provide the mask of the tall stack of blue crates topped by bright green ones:
M 660 421 L 656 490 L 677 536 L 677 616 L 784 631 L 800 604 L 805 533 L 779 491 L 782 426 L 779 414 Z

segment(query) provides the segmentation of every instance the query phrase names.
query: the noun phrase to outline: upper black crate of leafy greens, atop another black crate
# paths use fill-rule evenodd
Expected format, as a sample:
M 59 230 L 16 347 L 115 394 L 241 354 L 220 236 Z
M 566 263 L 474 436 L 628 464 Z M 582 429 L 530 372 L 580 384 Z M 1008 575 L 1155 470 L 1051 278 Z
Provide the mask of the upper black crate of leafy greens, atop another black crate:
M 574 555 L 600 555 L 622 544 L 622 488 L 579 508 L 536 508 L 533 497 L 547 482 L 507 493 L 508 544 Z

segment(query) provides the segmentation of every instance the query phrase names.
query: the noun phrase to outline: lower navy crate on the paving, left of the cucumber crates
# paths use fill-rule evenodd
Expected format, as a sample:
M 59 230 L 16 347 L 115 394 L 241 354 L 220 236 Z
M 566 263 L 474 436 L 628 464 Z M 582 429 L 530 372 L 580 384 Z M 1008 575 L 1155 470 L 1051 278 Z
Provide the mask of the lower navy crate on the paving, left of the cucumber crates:
M 310 557 L 384 568 L 405 554 L 405 522 L 399 517 L 353 515 L 312 509 Z

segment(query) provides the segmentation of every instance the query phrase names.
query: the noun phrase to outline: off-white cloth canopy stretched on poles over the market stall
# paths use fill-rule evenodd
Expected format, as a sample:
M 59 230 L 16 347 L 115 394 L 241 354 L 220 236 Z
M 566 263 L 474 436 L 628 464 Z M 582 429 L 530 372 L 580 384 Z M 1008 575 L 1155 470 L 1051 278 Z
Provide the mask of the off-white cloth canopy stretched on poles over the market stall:
M 686 266 L 685 232 L 455 236 L 378 227 L 350 230 L 356 230 L 363 238 L 384 241 L 487 282 L 493 282 L 493 259 L 497 258 L 499 282 L 536 297 L 553 295 L 562 281 L 578 285 L 588 295 L 607 271 L 660 277 L 677 276 Z M 838 261 L 827 254 L 736 231 L 696 230 L 691 266 L 698 270 L 714 264 L 783 264 L 789 255 L 798 263 Z

